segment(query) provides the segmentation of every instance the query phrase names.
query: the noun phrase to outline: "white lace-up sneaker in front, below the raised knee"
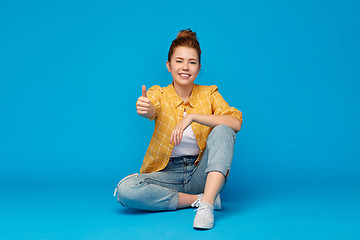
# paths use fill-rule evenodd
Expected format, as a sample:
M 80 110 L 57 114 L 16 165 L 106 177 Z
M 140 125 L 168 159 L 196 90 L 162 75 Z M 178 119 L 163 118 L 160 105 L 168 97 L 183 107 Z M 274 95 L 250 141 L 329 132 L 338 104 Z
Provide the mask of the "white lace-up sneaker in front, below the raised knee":
M 200 202 L 198 209 L 195 210 L 194 228 L 211 229 L 214 227 L 214 207 L 210 203 Z

